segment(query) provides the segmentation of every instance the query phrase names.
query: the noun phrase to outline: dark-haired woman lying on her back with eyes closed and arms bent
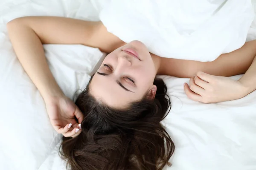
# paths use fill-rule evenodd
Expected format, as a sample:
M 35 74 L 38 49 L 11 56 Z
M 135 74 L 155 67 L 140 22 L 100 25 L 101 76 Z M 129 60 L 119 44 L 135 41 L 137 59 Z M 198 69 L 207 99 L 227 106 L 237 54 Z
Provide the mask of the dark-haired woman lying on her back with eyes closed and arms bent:
M 197 62 L 150 54 L 142 42 L 126 44 L 101 22 L 22 17 L 7 27 L 52 126 L 65 136 L 62 156 L 73 170 L 162 169 L 168 164 L 174 144 L 160 121 L 170 102 L 157 74 L 191 77 L 190 87 L 184 85 L 186 95 L 204 103 L 239 99 L 256 89 L 256 41 L 213 62 Z M 47 43 L 83 44 L 109 53 L 76 105 L 49 71 L 42 46 Z M 236 74 L 244 76 L 227 78 Z

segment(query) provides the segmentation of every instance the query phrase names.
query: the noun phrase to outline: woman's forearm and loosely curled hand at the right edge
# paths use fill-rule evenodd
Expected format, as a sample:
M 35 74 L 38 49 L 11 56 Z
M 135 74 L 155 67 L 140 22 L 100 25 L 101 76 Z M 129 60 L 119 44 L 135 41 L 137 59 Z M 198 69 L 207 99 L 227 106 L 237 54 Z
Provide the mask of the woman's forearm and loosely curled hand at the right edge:
M 237 81 L 199 71 L 190 79 L 189 86 L 185 83 L 184 90 L 190 99 L 204 103 L 240 99 L 256 90 L 256 57 L 250 68 Z

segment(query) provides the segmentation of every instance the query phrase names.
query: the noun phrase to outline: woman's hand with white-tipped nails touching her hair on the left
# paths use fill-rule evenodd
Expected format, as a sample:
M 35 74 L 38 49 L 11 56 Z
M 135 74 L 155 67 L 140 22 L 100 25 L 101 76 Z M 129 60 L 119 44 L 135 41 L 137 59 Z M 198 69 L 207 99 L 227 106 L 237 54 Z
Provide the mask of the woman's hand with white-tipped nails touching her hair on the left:
M 81 133 L 83 114 L 66 96 L 52 97 L 45 101 L 50 122 L 58 133 L 65 137 L 76 137 Z M 78 119 L 76 122 L 75 117 Z

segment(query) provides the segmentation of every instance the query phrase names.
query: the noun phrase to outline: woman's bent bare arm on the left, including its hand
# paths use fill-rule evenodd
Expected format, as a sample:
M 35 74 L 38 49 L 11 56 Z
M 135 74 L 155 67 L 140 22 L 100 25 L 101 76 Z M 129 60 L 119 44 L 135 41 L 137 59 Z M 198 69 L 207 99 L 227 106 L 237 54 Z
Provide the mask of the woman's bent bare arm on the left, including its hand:
M 52 126 L 66 137 L 76 137 L 81 133 L 83 114 L 59 88 L 42 44 L 83 44 L 111 52 L 122 41 L 101 22 L 63 17 L 22 17 L 9 22 L 7 28 L 21 65 L 44 98 Z

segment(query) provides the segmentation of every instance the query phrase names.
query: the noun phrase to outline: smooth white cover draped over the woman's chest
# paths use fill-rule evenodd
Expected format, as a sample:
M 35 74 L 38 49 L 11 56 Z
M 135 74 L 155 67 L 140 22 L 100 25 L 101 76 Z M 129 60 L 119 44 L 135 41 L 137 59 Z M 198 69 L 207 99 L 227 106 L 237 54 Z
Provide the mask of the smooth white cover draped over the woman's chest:
M 140 40 L 160 57 L 206 62 L 244 44 L 250 1 L 111 0 L 100 20 L 121 40 Z

